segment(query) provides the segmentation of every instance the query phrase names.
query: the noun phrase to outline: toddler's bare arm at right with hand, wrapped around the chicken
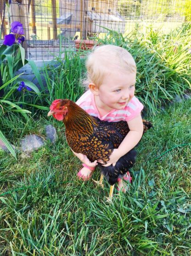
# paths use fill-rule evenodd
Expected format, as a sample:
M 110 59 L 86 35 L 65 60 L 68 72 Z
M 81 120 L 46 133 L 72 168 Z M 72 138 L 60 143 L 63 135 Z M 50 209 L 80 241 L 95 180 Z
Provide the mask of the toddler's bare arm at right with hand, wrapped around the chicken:
M 111 164 L 115 166 L 116 162 L 120 157 L 125 155 L 131 149 L 133 149 L 137 143 L 140 141 L 143 135 L 143 121 L 141 115 L 139 114 L 131 121 L 128 121 L 129 132 L 119 145 L 118 149 L 114 149 L 112 154 L 109 157 L 109 161 L 107 164 L 103 164 L 103 166 L 110 166 Z M 98 161 L 101 162 L 101 161 Z M 102 162 L 101 162 L 102 163 Z

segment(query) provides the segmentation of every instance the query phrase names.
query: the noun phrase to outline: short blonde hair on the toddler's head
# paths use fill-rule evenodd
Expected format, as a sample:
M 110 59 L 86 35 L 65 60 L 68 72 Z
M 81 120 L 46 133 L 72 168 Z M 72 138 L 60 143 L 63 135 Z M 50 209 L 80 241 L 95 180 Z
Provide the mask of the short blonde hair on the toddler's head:
M 99 87 L 104 77 L 115 71 L 136 73 L 136 64 L 132 55 L 124 48 L 115 45 L 95 47 L 86 60 L 86 68 L 87 79 L 84 81 L 86 88 L 89 83 L 95 83 Z

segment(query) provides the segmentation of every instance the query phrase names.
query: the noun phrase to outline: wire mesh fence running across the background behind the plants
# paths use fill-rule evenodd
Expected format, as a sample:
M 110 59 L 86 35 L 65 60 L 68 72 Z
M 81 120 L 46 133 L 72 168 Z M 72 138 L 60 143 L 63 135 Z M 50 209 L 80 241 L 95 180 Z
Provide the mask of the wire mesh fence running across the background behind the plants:
M 0 43 L 19 21 L 27 58 L 51 60 L 75 50 L 76 40 L 102 38 L 108 30 L 127 35 L 135 24 L 152 24 L 168 32 L 190 20 L 191 0 L 0 0 Z

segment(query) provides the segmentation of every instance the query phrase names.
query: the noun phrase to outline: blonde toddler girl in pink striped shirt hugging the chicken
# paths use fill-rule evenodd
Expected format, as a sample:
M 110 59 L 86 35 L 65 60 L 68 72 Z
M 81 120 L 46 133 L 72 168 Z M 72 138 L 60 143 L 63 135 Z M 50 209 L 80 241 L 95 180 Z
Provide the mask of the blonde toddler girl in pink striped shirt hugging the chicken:
M 129 133 L 118 149 L 114 149 L 110 160 L 103 166 L 115 166 L 118 159 L 134 148 L 143 134 L 140 115 L 143 105 L 135 97 L 136 65 L 132 55 L 124 48 L 114 45 L 96 47 L 86 61 L 88 90 L 76 102 L 91 116 L 107 122 L 127 121 Z M 90 179 L 97 161 L 91 163 L 83 154 L 73 152 L 82 162 L 79 179 Z M 129 172 L 123 177 L 131 181 Z M 124 188 L 118 179 L 118 190 Z M 124 189 L 123 189 L 124 191 Z

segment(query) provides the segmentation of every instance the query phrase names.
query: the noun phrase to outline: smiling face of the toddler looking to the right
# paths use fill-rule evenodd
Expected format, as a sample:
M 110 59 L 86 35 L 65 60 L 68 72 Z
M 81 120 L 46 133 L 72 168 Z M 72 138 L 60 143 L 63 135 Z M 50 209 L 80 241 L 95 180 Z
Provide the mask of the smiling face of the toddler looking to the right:
M 99 101 L 107 110 L 123 109 L 135 94 L 136 73 L 105 76 L 98 89 Z

